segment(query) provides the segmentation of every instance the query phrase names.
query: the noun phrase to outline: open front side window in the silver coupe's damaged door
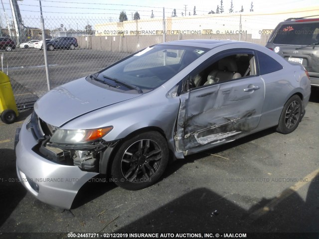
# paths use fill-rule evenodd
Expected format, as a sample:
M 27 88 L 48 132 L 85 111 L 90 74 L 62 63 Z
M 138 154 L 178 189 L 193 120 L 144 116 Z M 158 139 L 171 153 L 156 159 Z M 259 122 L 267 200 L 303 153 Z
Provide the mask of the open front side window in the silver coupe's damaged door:
M 198 88 L 256 75 L 255 69 L 252 52 L 213 56 L 189 74 L 188 84 L 191 86 L 186 85 L 185 88 Z

